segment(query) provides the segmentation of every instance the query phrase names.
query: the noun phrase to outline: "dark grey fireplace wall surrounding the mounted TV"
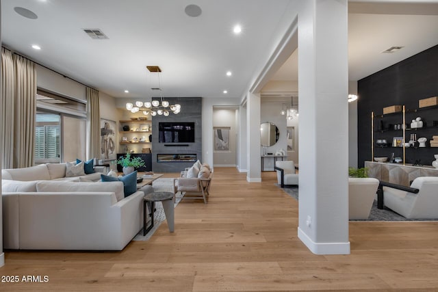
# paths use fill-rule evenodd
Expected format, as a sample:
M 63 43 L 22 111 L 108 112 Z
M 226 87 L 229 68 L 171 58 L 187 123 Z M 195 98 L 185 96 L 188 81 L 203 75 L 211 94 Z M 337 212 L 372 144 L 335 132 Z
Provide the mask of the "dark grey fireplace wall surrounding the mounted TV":
M 159 100 L 159 98 L 152 98 Z M 157 154 L 196 154 L 196 158 L 202 160 L 202 98 L 201 97 L 166 97 L 170 105 L 179 103 L 181 112 L 170 113 L 169 116 L 154 116 L 152 118 L 152 170 L 153 172 L 181 172 L 191 167 L 193 162 L 157 162 Z M 159 143 L 159 122 L 194 122 L 194 143 Z M 171 146 L 166 146 L 171 145 Z

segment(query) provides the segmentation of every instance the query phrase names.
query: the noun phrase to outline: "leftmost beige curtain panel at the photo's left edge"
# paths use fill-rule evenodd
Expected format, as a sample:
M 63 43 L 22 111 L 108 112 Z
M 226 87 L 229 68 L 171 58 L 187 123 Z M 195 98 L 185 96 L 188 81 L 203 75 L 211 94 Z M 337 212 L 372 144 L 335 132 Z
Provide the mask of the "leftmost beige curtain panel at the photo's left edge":
M 14 62 L 1 48 L 1 168 L 13 168 L 14 155 Z

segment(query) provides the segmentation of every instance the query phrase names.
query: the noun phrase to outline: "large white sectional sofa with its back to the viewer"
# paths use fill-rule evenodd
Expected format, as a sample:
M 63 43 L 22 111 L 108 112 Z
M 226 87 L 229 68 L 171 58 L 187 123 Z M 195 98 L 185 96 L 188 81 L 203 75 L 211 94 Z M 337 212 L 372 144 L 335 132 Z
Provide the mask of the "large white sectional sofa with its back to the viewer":
M 3 248 L 123 250 L 143 227 L 143 191 L 125 198 L 120 181 L 60 173 L 62 165 L 2 170 Z

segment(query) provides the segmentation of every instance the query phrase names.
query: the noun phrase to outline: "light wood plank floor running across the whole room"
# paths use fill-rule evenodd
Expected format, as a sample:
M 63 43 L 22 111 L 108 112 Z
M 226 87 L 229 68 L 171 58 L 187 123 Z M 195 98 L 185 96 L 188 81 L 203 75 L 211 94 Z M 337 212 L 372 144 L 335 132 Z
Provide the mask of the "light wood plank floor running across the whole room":
M 166 175 L 169 176 L 169 175 Z M 216 168 L 208 204 L 183 200 L 122 252 L 5 252 L 1 276 L 49 276 L 0 291 L 438 291 L 438 222 L 350 222 L 351 254 L 318 256 L 297 238 L 298 203 L 274 185 Z

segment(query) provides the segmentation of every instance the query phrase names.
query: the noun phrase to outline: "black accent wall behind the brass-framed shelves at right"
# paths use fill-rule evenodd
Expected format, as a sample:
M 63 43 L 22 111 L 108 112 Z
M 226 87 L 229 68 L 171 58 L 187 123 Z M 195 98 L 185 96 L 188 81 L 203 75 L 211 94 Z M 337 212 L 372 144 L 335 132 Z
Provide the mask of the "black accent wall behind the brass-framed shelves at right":
M 411 111 L 418 109 L 418 100 L 438 96 L 438 45 L 359 80 L 357 92 L 359 95 L 357 104 L 358 165 L 361 167 L 364 161 L 372 159 L 372 111 L 374 114 L 381 115 L 383 107 L 391 105 L 405 105 L 406 109 Z M 417 116 L 424 121 L 438 120 L 438 107 L 408 112 L 406 114 L 407 124 L 410 124 L 411 120 Z M 385 124 L 400 123 L 401 117 L 401 114 L 385 115 Z M 429 141 L 432 135 L 438 135 L 438 127 L 406 131 L 407 140 L 409 140 L 410 133 L 417 133 L 417 138 L 426 137 Z M 387 131 L 379 134 L 379 137 L 392 142 L 392 137 L 401 135 L 402 131 Z M 375 143 L 377 137 L 374 136 Z M 390 157 L 392 152 L 396 157 L 402 157 L 402 148 L 374 148 L 375 157 Z M 435 160 L 434 154 L 438 154 L 438 148 L 407 148 L 406 163 L 413 163 L 420 159 L 422 164 L 430 165 Z

